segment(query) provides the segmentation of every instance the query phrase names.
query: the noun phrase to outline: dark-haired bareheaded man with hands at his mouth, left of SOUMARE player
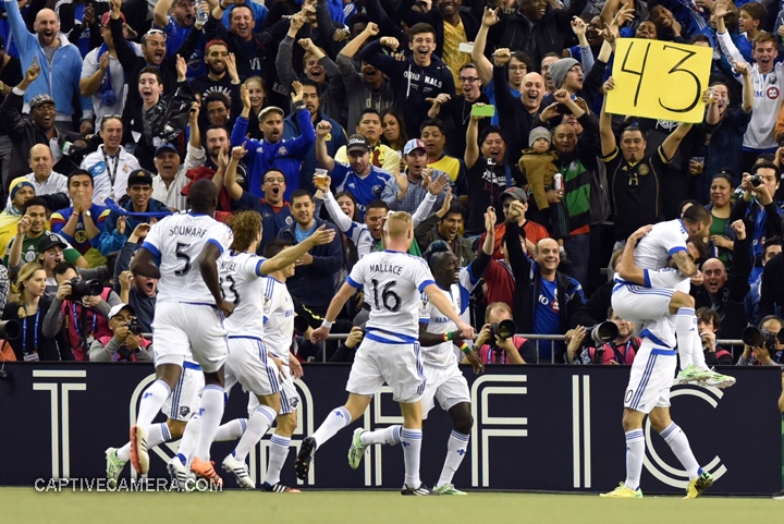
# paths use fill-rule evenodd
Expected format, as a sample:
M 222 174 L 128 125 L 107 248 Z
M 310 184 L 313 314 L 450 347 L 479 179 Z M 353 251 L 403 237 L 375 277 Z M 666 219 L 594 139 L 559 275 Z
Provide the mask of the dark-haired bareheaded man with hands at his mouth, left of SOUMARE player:
M 49 219 L 51 229 L 71 243 L 89 267 L 106 264 L 98 251 L 98 241 L 109 217 L 109 208 L 93 200 L 93 175 L 84 169 L 76 169 L 69 175 L 69 196 L 73 205 L 54 211 Z

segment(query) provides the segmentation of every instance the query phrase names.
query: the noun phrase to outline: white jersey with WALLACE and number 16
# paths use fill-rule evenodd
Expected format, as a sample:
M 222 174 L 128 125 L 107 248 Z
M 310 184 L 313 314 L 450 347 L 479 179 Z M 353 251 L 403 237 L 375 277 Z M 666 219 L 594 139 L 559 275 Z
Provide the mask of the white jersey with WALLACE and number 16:
M 346 282 L 370 295 L 367 328 L 419 337 L 421 291 L 436 283 L 427 263 L 405 253 L 370 253 L 354 265 Z

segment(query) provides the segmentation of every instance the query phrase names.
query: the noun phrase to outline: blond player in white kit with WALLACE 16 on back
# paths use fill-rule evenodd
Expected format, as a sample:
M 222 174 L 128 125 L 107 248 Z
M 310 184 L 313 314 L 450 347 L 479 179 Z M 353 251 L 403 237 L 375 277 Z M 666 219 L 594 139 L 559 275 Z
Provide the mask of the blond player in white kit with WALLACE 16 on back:
M 474 329 L 455 313 L 446 295 L 433 281 L 425 260 L 405 253 L 414 240 L 411 215 L 392 212 L 384 228 L 387 248 L 365 256 L 354 266 L 330 303 L 321 327 L 310 337 L 313 342 L 324 340 L 345 302 L 356 289 L 366 285 L 365 292 L 371 295 L 371 310 L 346 383 L 348 400 L 333 410 L 313 436 L 303 440 L 294 470 L 298 478 L 306 478 L 316 449 L 360 417 L 372 395 L 387 382 L 403 412 L 401 444 L 405 459 L 405 486 L 401 492 L 430 495 L 419 480 L 420 399 L 426 386 L 417 342 L 420 293 L 427 294 L 436 308 L 455 322 L 462 338 L 470 338 Z

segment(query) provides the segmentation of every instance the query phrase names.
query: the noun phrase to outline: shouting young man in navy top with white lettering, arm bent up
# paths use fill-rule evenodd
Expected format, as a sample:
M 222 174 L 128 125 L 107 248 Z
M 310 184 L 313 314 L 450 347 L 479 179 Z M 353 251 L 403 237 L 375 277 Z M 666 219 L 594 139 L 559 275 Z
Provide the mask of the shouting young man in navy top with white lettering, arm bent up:
M 408 48 L 412 56 L 400 61 L 384 54 L 382 48 L 400 51 L 397 38 L 384 36 L 359 51 L 359 58 L 380 70 L 392 82 L 395 107 L 403 113 L 406 129 L 418 130 L 432 106 L 427 100 L 441 93 L 455 97 L 452 72 L 433 56 L 436 31 L 429 24 L 414 24 L 409 29 Z

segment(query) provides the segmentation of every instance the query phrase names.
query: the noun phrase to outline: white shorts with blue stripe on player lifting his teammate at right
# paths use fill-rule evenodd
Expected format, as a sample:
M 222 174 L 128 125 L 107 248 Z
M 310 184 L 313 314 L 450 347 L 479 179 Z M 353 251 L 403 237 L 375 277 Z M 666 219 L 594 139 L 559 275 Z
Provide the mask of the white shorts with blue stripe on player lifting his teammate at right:
M 624 407 L 650 413 L 654 407 L 670 407 L 670 388 L 677 368 L 677 353 L 660 348 L 644 338 L 632 364 Z

